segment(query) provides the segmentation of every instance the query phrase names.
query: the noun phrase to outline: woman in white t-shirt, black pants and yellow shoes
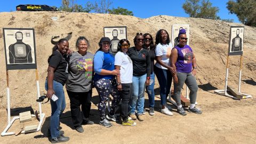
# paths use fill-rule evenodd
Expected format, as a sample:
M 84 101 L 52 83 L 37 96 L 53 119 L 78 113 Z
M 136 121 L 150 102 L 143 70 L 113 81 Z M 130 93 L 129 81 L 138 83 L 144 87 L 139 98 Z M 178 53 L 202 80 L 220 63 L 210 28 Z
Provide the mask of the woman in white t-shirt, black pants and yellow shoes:
M 132 97 L 132 75 L 133 66 L 132 60 L 126 54 L 130 47 L 130 42 L 127 39 L 121 39 L 118 43 L 117 53 L 115 55 L 115 69 L 120 70 L 120 75 L 116 76 L 117 89 L 121 91 L 121 117 L 122 125 L 134 126 L 134 123 L 128 117 L 129 101 Z

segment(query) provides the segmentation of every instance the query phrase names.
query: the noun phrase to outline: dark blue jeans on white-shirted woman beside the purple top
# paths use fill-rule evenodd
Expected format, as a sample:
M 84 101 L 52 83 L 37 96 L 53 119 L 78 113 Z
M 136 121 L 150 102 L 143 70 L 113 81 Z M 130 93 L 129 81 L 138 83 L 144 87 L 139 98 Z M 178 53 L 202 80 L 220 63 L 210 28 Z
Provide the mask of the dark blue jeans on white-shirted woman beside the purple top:
M 154 68 L 157 80 L 160 85 L 161 105 L 166 105 L 166 99 L 170 93 L 172 84 L 172 74 L 168 69 L 162 69 L 155 66 Z

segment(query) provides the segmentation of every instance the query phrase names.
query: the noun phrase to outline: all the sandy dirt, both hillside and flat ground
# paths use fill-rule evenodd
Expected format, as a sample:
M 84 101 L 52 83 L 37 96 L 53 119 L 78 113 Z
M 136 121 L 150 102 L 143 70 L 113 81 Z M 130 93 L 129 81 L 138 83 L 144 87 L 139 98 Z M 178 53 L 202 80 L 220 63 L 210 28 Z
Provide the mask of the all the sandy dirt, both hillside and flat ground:
M 78 36 L 86 36 L 91 44 L 89 51 L 98 49 L 98 41 L 103 36 L 105 26 L 127 26 L 128 38 L 132 41 L 137 32 L 151 33 L 154 37 L 158 29 L 166 29 L 171 34 L 173 24 L 190 25 L 190 46 L 197 58 L 197 82 L 199 85 L 199 107 L 204 111 L 202 115 L 188 114 L 185 117 L 174 113 L 174 116 L 165 116 L 157 108 L 159 93 L 156 95 L 156 115 L 146 114 L 144 122 L 137 122 L 135 127 L 123 127 L 114 123 L 113 127 L 106 129 L 98 125 L 97 111 L 98 96 L 93 92 L 92 116 L 96 123 L 84 126 L 85 133 L 78 134 L 72 130 L 71 118 L 63 118 L 61 126 L 70 136 L 69 143 L 256 143 L 255 118 L 256 99 L 233 100 L 213 94 L 215 89 L 223 89 L 227 49 L 229 39 L 229 26 L 241 26 L 239 23 L 227 23 L 217 20 L 178 18 L 159 15 L 148 19 L 140 19 L 124 15 L 94 14 L 94 13 L 67 13 L 67 12 L 11 12 L 0 13 L 1 28 L 35 28 L 37 67 L 41 93 L 44 90 L 47 58 L 51 53 L 52 35 L 64 35 L 73 32 L 70 47 L 75 50 L 75 41 Z M 53 21 L 51 17 L 58 17 Z M 3 30 L 0 29 L 0 131 L 6 125 L 6 69 L 3 44 Z M 242 92 L 255 96 L 256 85 L 256 28 L 245 26 Z M 230 58 L 229 84 L 237 87 L 238 56 Z M 10 75 L 11 108 L 33 107 L 35 103 L 36 85 L 35 70 L 12 70 Z M 155 89 L 159 85 L 156 84 Z M 146 95 L 147 97 L 147 95 Z M 70 115 L 69 99 L 66 95 L 67 108 L 65 115 Z M 148 100 L 146 99 L 146 102 Z M 173 107 L 173 110 L 175 108 Z M 42 131 L 31 134 L 21 134 L 17 137 L 1 137 L 0 143 L 45 143 L 47 125 L 49 123 L 50 105 L 43 105 L 46 121 Z M 16 123 L 15 125 L 18 125 Z M 13 126 L 11 130 L 15 131 Z M 43 135 L 44 134 L 44 135 Z

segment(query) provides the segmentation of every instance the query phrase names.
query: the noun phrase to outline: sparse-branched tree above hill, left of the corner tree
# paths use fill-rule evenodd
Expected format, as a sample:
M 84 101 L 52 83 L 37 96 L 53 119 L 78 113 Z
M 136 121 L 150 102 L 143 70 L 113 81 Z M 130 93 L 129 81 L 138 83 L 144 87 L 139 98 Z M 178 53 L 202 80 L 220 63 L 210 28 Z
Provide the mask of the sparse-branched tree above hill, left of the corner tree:
M 217 15 L 219 7 L 212 6 L 209 0 L 186 0 L 182 8 L 185 10 L 185 13 L 189 14 L 189 17 L 220 19 Z

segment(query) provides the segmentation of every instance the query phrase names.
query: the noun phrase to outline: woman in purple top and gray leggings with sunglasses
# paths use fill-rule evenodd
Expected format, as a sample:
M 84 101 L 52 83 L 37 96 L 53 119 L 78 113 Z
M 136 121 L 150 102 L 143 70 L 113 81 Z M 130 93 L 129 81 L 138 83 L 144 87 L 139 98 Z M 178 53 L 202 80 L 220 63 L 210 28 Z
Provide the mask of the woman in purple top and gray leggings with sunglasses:
M 187 45 L 187 35 L 185 29 L 180 29 L 178 35 L 179 44 L 175 46 L 171 53 L 171 66 L 177 71 L 173 74 L 174 99 L 178 106 L 178 113 L 182 116 L 187 115 L 181 106 L 180 91 L 184 83 L 188 86 L 190 107 L 189 112 L 202 114 L 202 111 L 195 107 L 197 95 L 196 83 L 196 57 L 190 46 Z

